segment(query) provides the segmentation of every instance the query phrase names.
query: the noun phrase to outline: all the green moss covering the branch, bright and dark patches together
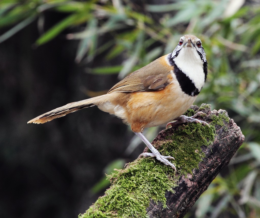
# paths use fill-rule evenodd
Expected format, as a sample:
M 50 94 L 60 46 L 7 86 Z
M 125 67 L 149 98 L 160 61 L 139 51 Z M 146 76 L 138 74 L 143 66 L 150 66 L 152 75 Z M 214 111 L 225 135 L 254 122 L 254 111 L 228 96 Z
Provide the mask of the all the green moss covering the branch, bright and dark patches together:
M 195 111 L 190 109 L 187 113 L 193 115 Z M 166 140 L 153 144 L 162 155 L 175 158 L 171 161 L 176 165 L 178 175 L 187 175 L 198 167 L 205 156 L 201 146 L 210 146 L 214 141 L 215 124 L 223 126 L 223 119 L 228 121 L 224 114 L 211 118 L 210 128 L 199 123 L 180 125 L 174 130 L 169 128 L 164 132 Z M 110 189 L 86 213 L 80 214 L 80 218 L 147 217 L 146 208 L 151 199 L 161 202 L 166 208 L 165 191 L 173 191 L 179 177 L 175 176 L 173 169 L 155 158 L 141 158 L 126 169 L 109 175 L 108 179 L 112 181 Z

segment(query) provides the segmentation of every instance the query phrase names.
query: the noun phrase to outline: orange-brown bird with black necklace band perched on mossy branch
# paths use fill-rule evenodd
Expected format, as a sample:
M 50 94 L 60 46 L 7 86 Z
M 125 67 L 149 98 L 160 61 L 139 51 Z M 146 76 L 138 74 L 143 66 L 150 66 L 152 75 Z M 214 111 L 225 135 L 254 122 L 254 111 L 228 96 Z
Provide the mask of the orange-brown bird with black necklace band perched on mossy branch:
M 141 157 L 155 157 L 176 173 L 171 156 L 160 152 L 146 139 L 147 127 L 196 122 L 209 126 L 195 117 L 183 115 L 196 100 L 207 78 L 207 60 L 202 42 L 194 35 L 184 35 L 172 53 L 166 54 L 136 70 L 115 84 L 107 94 L 72 102 L 51 110 L 28 123 L 45 123 L 74 111 L 96 105 L 100 110 L 114 114 L 129 125 L 146 144 L 151 153 Z M 175 120 L 175 123 L 174 123 Z

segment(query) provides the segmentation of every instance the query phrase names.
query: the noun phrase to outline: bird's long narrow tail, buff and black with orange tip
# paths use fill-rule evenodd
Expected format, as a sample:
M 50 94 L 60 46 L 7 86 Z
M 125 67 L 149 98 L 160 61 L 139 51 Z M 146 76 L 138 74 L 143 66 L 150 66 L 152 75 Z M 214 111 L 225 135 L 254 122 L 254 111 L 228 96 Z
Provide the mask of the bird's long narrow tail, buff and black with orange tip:
M 94 106 L 94 105 L 97 104 L 98 99 L 100 99 L 100 97 L 101 96 L 66 104 L 62 107 L 56 108 L 56 109 L 51 110 L 51 111 L 49 111 L 45 114 L 37 116 L 34 119 L 28 121 L 27 123 L 45 123 L 47 121 L 51 121 L 51 120 L 56 119 L 58 117 L 65 116 L 66 114 L 72 113 L 74 111 Z

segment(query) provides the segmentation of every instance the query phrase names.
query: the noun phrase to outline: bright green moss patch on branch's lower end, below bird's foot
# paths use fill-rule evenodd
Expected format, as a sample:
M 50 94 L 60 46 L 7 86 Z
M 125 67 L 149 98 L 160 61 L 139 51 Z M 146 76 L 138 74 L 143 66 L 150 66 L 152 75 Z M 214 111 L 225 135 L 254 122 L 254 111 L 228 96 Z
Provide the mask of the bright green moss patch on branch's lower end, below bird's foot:
M 165 191 L 177 185 L 174 170 L 153 158 L 142 158 L 108 176 L 112 186 L 79 217 L 147 217 L 150 199 L 166 207 Z

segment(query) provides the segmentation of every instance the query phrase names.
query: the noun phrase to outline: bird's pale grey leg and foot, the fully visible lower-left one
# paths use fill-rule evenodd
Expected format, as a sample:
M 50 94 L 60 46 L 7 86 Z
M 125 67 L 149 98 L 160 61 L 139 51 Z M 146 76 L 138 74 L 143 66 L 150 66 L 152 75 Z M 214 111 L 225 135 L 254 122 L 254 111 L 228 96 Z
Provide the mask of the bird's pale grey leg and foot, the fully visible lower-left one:
M 160 152 L 155 148 L 153 147 L 153 145 L 145 138 L 145 136 L 142 134 L 142 133 L 136 133 L 136 135 L 139 136 L 140 139 L 142 139 L 142 141 L 147 145 L 147 147 L 151 150 L 152 153 L 142 153 L 139 155 L 138 158 L 141 158 L 141 157 L 156 157 L 157 160 L 161 161 L 162 163 L 164 163 L 165 165 L 167 166 L 171 166 L 172 169 L 174 169 L 174 171 L 176 172 L 176 167 L 174 166 L 173 163 L 171 163 L 170 161 L 168 160 L 174 160 L 173 157 L 171 156 L 163 156 L 160 154 Z

